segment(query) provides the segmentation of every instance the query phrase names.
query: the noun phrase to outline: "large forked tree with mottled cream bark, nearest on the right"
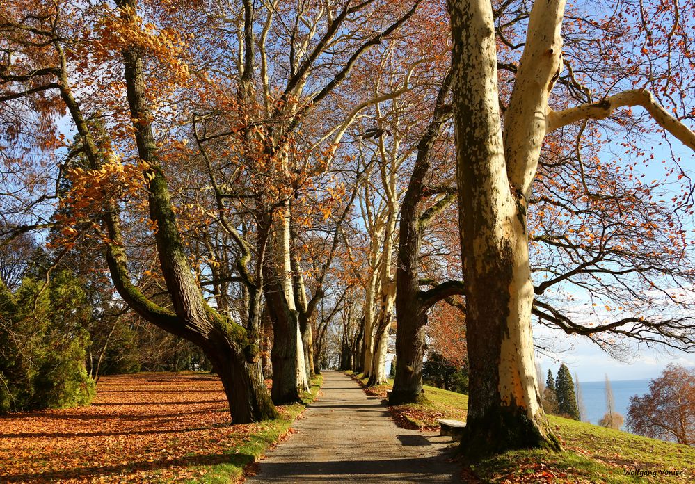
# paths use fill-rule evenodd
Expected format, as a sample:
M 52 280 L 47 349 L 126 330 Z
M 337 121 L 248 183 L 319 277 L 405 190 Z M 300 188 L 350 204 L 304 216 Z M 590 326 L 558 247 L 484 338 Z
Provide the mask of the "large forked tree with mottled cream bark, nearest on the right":
M 535 291 L 527 211 L 546 135 L 577 121 L 605 119 L 621 106 L 637 105 L 688 147 L 695 148 L 695 134 L 644 89 L 605 94 L 602 102 L 561 111 L 550 108 L 550 94 L 563 70 L 564 0 L 536 1 L 530 13 L 521 15 L 528 19 L 526 41 L 520 43 L 518 66 L 510 69 L 513 88 L 505 105 L 498 88 L 495 38 L 495 13 L 500 12 L 486 0 L 447 4 L 471 374 L 461 445 L 470 457 L 524 447 L 559 449 L 538 396 L 531 332 Z M 508 6 L 502 3 L 500 9 Z M 509 40 L 501 42 L 519 48 Z M 570 382 L 569 374 L 566 377 Z M 561 401 L 559 383 L 558 400 L 561 412 L 568 410 L 563 408 L 570 404 Z

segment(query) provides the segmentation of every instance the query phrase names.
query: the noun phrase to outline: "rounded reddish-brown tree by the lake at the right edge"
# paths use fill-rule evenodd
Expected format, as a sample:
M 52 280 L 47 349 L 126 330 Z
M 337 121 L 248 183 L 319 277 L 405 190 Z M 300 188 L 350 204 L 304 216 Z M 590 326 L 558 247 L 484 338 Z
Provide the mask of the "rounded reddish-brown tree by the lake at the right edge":
M 669 365 L 649 382 L 649 392 L 632 396 L 628 407 L 630 432 L 655 439 L 695 442 L 695 371 Z

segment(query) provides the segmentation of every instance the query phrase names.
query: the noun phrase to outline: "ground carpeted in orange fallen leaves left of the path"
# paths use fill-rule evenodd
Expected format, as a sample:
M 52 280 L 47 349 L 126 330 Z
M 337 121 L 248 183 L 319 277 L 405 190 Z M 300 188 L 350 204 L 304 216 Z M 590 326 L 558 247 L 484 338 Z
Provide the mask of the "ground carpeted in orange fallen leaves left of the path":
M 104 376 L 88 407 L 0 417 L 0 482 L 230 482 L 302 408 L 232 426 L 214 375 Z

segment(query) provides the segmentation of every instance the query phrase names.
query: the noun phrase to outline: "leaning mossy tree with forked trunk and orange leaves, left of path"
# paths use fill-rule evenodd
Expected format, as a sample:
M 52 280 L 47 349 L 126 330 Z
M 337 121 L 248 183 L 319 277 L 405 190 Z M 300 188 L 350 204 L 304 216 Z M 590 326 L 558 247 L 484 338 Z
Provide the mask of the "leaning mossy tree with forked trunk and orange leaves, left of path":
M 68 166 L 64 174 L 58 175 L 71 181 L 70 193 L 61 198 L 61 203 L 70 206 L 72 218 L 56 220 L 61 227 L 62 245 L 70 248 L 84 236 L 97 236 L 103 242 L 104 257 L 122 300 L 150 323 L 189 339 L 205 350 L 225 387 L 232 421 L 274 417 L 276 412 L 257 359 L 257 317 L 250 311 L 245 324 L 241 325 L 217 312 L 205 300 L 191 271 L 189 253 L 172 202 L 171 181 L 163 169 L 168 159 L 163 144 L 155 137 L 153 104 L 159 95 L 170 92 L 168 83 L 180 86 L 185 82 L 187 71 L 179 56 L 181 51 L 167 40 L 164 31 L 147 33 L 143 30 L 143 19 L 137 15 L 134 1 L 116 3 L 116 10 L 105 5 L 103 9 L 81 9 L 55 4 L 44 9 L 22 4 L 4 11 L 3 41 L 10 42 L 10 51 L 31 50 L 31 45 L 39 42 L 38 38 L 43 51 L 42 55 L 31 55 L 32 62 L 28 65 L 3 65 L 5 68 L 0 74 L 3 86 L 10 91 L 11 88 L 18 90 L 4 96 L 3 101 L 28 95 L 21 86 L 17 88 L 22 82 L 45 81 L 41 92 L 57 93 L 51 97 L 52 111 L 45 114 L 50 117 L 56 111 L 67 110 L 77 129 L 79 148 L 76 150 L 86 160 L 86 167 Z M 32 8 L 41 11 L 27 15 Z M 25 29 L 27 23 L 32 24 L 30 29 Z M 81 30 L 85 25 L 91 27 Z M 66 52 L 65 42 L 72 45 L 70 39 L 76 36 L 83 39 L 80 48 L 69 47 Z M 152 42 L 154 38 L 157 42 Z M 83 63 L 81 58 L 91 61 Z M 99 83 L 120 82 L 125 92 L 115 97 L 101 97 L 99 101 L 104 103 L 97 106 L 90 102 L 95 99 L 77 96 L 74 83 L 84 81 L 89 75 L 84 71 L 88 64 L 113 67 L 112 74 L 118 74 L 102 76 Z M 26 75 L 25 69 L 37 72 L 35 68 L 38 77 Z M 73 76 L 76 72 L 81 75 Z M 154 82 L 157 78 L 154 73 L 161 74 L 158 82 Z M 104 130 L 102 123 L 95 122 L 102 117 L 99 109 L 109 113 L 115 109 L 122 114 L 111 118 L 109 129 Z M 60 140 L 54 139 L 54 143 Z M 129 150 L 138 162 L 135 165 L 122 163 L 118 150 Z M 129 176 L 122 178 L 124 170 L 130 170 Z M 134 192 L 127 188 L 129 183 L 135 191 L 142 189 L 138 193 L 144 195 L 144 203 L 142 198 L 133 198 Z M 130 204 L 125 202 L 127 199 Z M 141 209 L 139 213 L 138 209 Z M 143 222 L 149 212 L 150 227 L 141 234 L 156 245 L 159 265 L 155 272 L 166 287 L 166 305 L 148 298 L 131 274 L 127 250 L 129 234 L 125 229 L 132 224 L 127 223 L 129 218 L 125 213 L 134 216 L 133 211 Z M 82 231 L 85 222 L 90 227 L 89 234 Z M 255 288 L 255 292 L 253 289 L 250 291 L 252 300 L 259 293 L 259 288 Z

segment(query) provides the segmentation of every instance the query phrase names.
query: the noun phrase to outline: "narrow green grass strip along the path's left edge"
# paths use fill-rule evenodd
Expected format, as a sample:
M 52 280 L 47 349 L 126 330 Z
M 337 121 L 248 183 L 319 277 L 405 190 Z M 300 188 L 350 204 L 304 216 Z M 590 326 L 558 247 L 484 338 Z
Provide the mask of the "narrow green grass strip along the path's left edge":
M 310 392 L 302 395 L 303 403 L 278 407 L 280 417 L 257 424 L 255 433 L 248 435 L 241 444 L 231 446 L 225 451 L 229 455 L 229 459 L 226 462 L 214 465 L 191 466 L 191 474 L 202 474 L 202 476 L 188 482 L 226 484 L 240 481 L 241 476 L 243 476 L 243 469 L 255 462 L 255 460 L 258 460 L 266 449 L 288 432 L 294 419 L 319 394 L 322 382 L 323 377 L 321 375 L 312 378 Z

